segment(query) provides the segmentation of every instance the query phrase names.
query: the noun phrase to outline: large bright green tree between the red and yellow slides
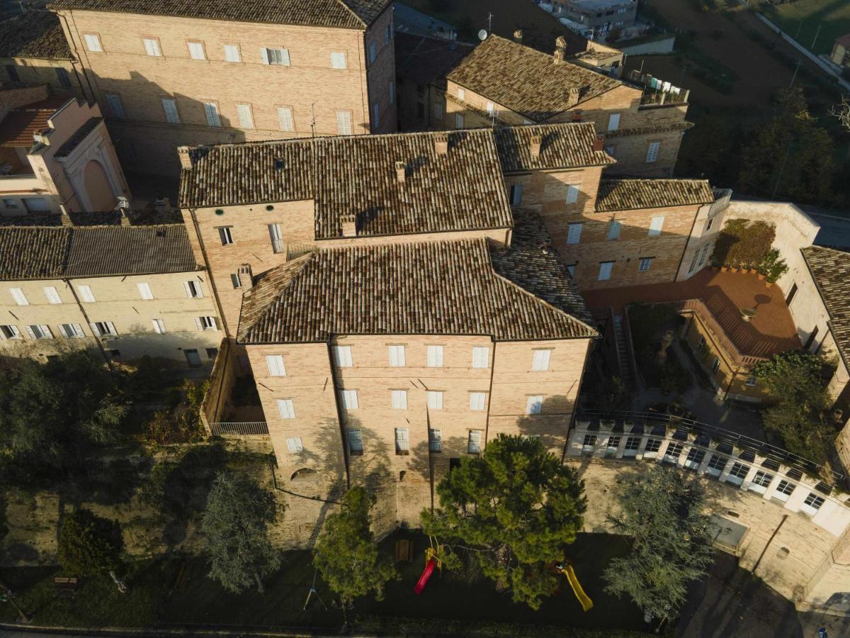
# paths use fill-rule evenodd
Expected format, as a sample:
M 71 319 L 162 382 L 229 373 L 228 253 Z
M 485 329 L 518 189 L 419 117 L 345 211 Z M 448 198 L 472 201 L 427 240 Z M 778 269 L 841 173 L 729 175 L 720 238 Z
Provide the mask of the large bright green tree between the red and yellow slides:
M 487 578 L 537 609 L 558 588 L 547 563 L 564 560 L 575 541 L 587 509 L 583 491 L 575 470 L 541 441 L 499 435 L 439 482 L 439 509 L 423 511 L 422 524 L 441 542 L 456 539 Z

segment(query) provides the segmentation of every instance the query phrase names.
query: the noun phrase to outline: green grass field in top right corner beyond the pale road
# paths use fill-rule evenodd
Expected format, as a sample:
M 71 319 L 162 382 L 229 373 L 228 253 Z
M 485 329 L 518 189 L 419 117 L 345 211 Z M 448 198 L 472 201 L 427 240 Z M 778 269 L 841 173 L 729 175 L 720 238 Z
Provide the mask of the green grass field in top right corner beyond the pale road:
M 847 0 L 796 0 L 785 4 L 763 4 L 759 11 L 816 54 L 830 54 L 836 37 L 850 33 L 850 3 Z M 812 48 L 815 36 L 818 39 Z

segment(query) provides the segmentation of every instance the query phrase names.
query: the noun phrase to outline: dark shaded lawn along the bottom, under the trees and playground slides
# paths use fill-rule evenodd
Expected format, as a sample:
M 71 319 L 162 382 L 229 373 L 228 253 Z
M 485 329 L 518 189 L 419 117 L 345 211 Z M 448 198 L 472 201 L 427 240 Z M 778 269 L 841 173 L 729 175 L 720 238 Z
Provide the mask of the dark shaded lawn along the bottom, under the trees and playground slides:
M 594 601 L 592 610 L 585 613 L 565 579 L 563 589 L 537 612 L 514 603 L 509 592 L 496 591 L 489 580 L 469 583 L 463 575 L 450 572 L 435 572 L 422 595 L 415 595 L 412 590 L 422 572 L 428 538 L 420 533 L 407 535 L 414 539 L 415 560 L 400 566 L 401 578 L 388 586 L 383 601 L 369 598 L 355 603 L 348 618 L 358 629 L 391 635 L 424 629 L 429 634 L 561 636 L 625 636 L 644 629 L 642 614 L 631 601 L 603 592 L 602 570 L 611 558 L 626 553 L 626 538 L 580 534 L 570 546 L 568 556 Z M 392 536 L 383 544 L 384 551 L 392 552 L 394 538 L 397 537 Z M 7 569 L 2 577 L 19 592 L 19 600 L 33 612 L 34 624 L 38 625 L 214 625 L 221 629 L 251 626 L 306 630 L 337 628 L 343 623 L 341 611 L 332 607 L 325 611 L 315 599 L 303 611 L 313 580 L 309 552 L 287 553 L 280 572 L 266 582 L 264 595 L 229 594 L 208 579 L 206 572 L 201 557 L 150 561 L 139 565 L 138 572 L 127 578 L 127 595 L 119 594 L 108 577 L 89 578 L 70 599 L 55 598 L 52 569 Z M 330 606 L 333 595 L 320 579 L 316 580 L 316 589 Z M 0 621 L 14 622 L 14 618 L 10 605 L 0 605 Z

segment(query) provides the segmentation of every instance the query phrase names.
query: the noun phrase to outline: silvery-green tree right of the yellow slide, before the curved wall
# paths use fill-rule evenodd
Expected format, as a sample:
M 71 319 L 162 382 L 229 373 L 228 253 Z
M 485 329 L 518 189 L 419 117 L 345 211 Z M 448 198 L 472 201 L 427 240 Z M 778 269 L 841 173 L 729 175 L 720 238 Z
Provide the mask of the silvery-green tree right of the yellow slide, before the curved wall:
M 686 600 L 689 582 L 705 575 L 712 562 L 702 486 L 656 465 L 626 482 L 617 498 L 621 514 L 609 521 L 615 532 L 632 537 L 632 551 L 605 569 L 605 590 L 628 595 L 644 613 L 672 618 Z

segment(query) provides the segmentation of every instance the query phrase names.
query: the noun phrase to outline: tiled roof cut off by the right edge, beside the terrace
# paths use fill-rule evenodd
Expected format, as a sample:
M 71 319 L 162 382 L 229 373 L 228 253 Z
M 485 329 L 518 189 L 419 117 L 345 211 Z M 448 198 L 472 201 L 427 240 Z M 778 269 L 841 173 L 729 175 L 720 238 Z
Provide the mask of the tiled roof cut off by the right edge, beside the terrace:
M 830 330 L 844 365 L 850 368 L 850 253 L 836 248 L 802 248 L 820 298 L 830 313 Z

